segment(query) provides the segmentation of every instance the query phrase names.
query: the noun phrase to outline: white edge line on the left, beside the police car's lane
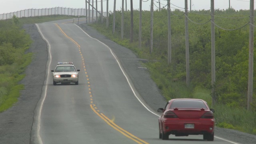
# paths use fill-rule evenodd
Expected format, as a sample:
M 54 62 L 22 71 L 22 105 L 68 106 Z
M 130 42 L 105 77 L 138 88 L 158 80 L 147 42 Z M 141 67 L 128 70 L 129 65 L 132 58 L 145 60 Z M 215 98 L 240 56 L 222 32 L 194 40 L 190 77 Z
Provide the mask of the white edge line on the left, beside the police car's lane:
M 48 46 L 48 54 L 49 54 L 49 65 L 48 65 L 48 72 L 46 73 L 46 85 L 45 85 L 45 89 L 44 89 L 44 94 L 43 94 L 43 98 L 42 98 L 42 101 L 41 101 L 41 104 L 40 104 L 40 108 L 39 108 L 39 112 L 38 112 L 38 122 L 37 122 L 37 130 L 36 130 L 36 136 L 38 138 L 38 142 L 39 144 L 43 144 L 42 142 L 42 138 L 40 136 L 40 123 L 41 123 L 41 112 L 42 112 L 42 107 L 43 107 L 43 104 L 44 104 L 44 100 L 46 98 L 46 92 L 47 92 L 47 87 L 48 87 L 48 78 L 49 78 L 49 72 L 50 72 L 50 63 L 52 62 L 52 54 L 50 53 L 50 49 L 51 49 L 51 45 L 50 43 L 48 42 L 48 40 L 46 40 L 46 38 L 44 38 L 44 35 L 42 34 L 38 24 L 36 24 L 36 27 L 38 29 L 38 32 L 40 33 L 40 35 L 42 36 L 43 40 L 47 43 L 47 46 Z

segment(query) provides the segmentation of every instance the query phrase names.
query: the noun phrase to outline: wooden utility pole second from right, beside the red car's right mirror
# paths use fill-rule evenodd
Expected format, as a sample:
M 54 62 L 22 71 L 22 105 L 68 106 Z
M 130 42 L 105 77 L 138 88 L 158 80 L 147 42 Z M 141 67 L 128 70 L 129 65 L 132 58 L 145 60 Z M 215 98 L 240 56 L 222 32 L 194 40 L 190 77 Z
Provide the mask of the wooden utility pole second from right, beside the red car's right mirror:
M 212 21 L 212 29 L 211 29 L 211 37 L 212 37 L 212 106 L 216 104 L 216 86 L 215 86 L 215 25 L 214 25 L 214 0 L 211 0 L 211 21 Z

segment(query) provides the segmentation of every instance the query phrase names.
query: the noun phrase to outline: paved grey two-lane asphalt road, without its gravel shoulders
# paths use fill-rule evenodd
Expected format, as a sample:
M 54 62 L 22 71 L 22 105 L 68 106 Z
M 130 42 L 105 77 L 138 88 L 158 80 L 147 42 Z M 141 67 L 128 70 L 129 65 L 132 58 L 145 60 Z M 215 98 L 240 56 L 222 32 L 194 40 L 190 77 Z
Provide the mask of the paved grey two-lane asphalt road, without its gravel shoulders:
M 42 98 L 32 129 L 40 144 L 207 143 L 202 136 L 158 139 L 158 115 L 144 104 L 111 48 L 75 24 L 37 24 L 48 43 Z M 80 69 L 79 85 L 52 84 L 57 62 Z M 215 138 L 214 144 L 230 144 Z

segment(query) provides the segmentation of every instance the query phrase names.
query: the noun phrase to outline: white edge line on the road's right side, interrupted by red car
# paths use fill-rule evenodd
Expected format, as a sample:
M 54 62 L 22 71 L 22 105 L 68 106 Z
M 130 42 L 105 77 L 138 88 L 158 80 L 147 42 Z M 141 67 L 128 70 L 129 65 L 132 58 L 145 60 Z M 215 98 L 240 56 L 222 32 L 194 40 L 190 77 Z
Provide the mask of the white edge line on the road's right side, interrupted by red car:
M 75 24 L 75 25 L 76 25 L 76 24 Z M 78 25 L 76 25 L 76 26 L 77 26 L 78 28 L 80 28 Z M 84 30 L 83 30 L 82 28 L 80 28 L 80 29 L 84 32 Z M 92 37 L 91 37 L 89 34 L 87 34 L 86 32 L 84 32 L 84 33 L 85 33 L 86 35 L 88 35 L 90 38 L 92 38 Z M 104 44 L 103 42 L 101 42 L 100 40 L 98 40 L 98 39 L 96 39 L 96 38 L 93 38 L 93 39 L 95 39 L 95 40 L 97 40 L 98 42 Z M 104 44 L 104 45 L 105 45 L 106 47 L 108 47 L 106 44 Z M 131 86 L 131 84 L 130 84 L 130 81 L 128 80 L 126 74 L 124 73 L 124 70 L 122 69 L 122 67 L 121 67 L 121 65 L 120 65 L 120 62 L 118 61 L 118 59 L 116 58 L 116 56 L 113 54 L 111 48 L 108 47 L 108 49 L 110 50 L 111 54 L 112 54 L 112 55 L 114 56 L 114 58 L 116 59 L 116 62 L 118 63 L 120 69 L 122 70 L 122 72 L 123 72 L 123 74 L 124 74 L 124 76 L 125 76 L 125 78 L 126 78 L 128 84 L 129 84 L 130 88 L 132 89 L 132 92 L 133 92 L 134 96 L 138 99 L 138 101 L 139 101 L 149 112 L 151 112 L 152 114 L 154 114 L 154 115 L 156 115 L 156 116 L 159 116 L 158 114 L 156 114 L 156 113 L 152 112 L 151 110 L 149 110 L 149 109 L 145 106 L 145 104 L 138 98 L 138 96 L 136 95 L 136 93 L 134 92 L 134 89 L 132 88 L 132 86 Z M 214 137 L 215 137 L 215 138 L 218 138 L 218 139 L 221 139 L 221 140 L 224 140 L 224 141 L 227 141 L 227 142 L 230 142 L 230 143 L 233 143 L 233 144 L 239 144 L 239 143 L 235 143 L 235 142 L 226 140 L 226 139 L 224 139 L 224 138 L 220 138 L 220 137 L 218 137 L 218 136 L 214 136 Z

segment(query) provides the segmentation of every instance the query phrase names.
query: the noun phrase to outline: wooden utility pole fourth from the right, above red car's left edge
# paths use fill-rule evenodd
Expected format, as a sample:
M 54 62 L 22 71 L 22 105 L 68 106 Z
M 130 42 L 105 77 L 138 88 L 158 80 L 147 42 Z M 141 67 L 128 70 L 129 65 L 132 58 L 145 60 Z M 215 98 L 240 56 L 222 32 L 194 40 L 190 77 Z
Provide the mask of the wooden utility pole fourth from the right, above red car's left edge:
M 172 33 L 171 33 L 171 9 L 170 9 L 170 0 L 167 1 L 168 5 L 168 64 L 171 64 L 172 61 Z

